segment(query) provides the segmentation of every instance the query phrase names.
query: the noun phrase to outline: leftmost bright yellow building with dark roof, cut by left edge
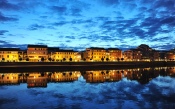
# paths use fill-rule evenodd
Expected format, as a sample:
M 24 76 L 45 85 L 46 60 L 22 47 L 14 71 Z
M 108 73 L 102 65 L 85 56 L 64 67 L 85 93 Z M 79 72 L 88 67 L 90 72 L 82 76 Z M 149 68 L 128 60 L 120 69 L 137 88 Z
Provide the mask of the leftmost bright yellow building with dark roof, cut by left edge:
M 0 48 L 0 61 L 16 62 L 19 61 L 19 48 Z

